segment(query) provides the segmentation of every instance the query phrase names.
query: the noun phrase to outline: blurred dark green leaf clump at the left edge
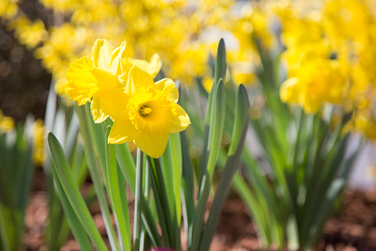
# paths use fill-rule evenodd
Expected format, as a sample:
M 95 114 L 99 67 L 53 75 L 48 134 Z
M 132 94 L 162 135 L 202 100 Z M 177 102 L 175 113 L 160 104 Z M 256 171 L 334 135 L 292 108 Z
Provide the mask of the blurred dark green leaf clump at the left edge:
M 32 124 L 0 133 L 0 250 L 21 248 L 24 216 L 34 174 Z

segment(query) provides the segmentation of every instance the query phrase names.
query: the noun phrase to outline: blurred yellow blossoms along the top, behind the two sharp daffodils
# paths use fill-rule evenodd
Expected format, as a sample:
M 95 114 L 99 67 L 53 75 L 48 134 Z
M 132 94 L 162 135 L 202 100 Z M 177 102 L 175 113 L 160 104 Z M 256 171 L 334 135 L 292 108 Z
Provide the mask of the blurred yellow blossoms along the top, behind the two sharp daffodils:
M 166 75 L 187 84 L 196 77 L 212 76 L 209 57 L 221 37 L 229 45 L 227 58 L 235 82 L 254 83 L 253 65 L 259 63 L 259 57 L 250 37 L 257 33 L 270 44 L 265 15 L 250 4 L 239 15 L 233 0 L 40 2 L 54 12 L 53 26 L 47 29 L 41 20 L 30 20 L 16 3 L 10 2 L 9 11 L 0 15 L 9 20 L 7 28 L 15 30 L 21 44 L 29 49 L 37 47 L 35 57 L 53 74 L 55 89 L 62 96 L 68 64 L 88 55 L 88 44 L 97 37 L 112 44 L 128 41 L 128 57 L 149 59 L 158 53 Z

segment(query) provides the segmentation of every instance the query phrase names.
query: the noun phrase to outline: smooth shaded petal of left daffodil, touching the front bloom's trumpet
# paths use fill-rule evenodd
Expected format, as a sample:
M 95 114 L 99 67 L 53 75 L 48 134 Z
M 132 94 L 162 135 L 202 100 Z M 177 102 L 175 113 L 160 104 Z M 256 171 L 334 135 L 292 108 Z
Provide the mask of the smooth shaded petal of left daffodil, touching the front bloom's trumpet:
M 98 99 L 103 112 L 116 119 L 127 108 L 129 96 L 124 88 L 115 88 L 100 92 Z

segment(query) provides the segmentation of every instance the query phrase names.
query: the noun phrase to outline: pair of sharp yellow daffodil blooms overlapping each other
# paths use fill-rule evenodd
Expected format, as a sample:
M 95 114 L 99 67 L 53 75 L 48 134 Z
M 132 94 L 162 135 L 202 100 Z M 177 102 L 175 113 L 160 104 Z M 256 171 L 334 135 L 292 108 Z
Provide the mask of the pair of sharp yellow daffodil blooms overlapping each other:
M 114 121 L 108 143 L 133 141 L 153 158 L 161 156 L 168 135 L 185 130 L 191 123 L 177 104 L 179 91 L 173 80 L 154 83 L 162 63 L 158 54 L 150 61 L 125 57 L 126 42 L 115 49 L 97 39 L 91 59 L 79 58 L 66 70 L 65 93 L 83 105 L 91 102 L 94 122 Z

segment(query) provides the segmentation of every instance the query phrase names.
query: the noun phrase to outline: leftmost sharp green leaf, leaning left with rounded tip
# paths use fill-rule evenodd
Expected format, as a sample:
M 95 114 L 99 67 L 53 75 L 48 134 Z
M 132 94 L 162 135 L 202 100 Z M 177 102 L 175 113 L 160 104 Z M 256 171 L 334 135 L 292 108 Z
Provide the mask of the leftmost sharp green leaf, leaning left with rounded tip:
M 106 245 L 91 218 L 89 209 L 77 188 L 67 159 L 65 159 L 64 151 L 58 139 L 56 139 L 51 132 L 48 134 L 48 142 L 56 174 L 77 218 L 80 220 L 83 228 L 85 228 L 86 233 L 96 248 L 99 250 L 107 250 Z

